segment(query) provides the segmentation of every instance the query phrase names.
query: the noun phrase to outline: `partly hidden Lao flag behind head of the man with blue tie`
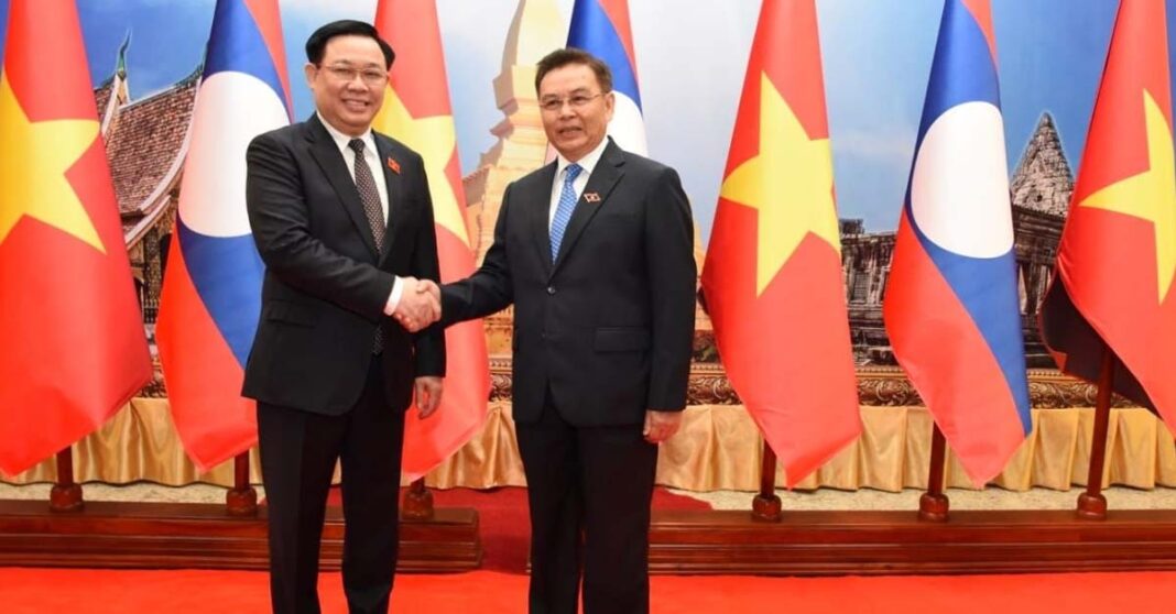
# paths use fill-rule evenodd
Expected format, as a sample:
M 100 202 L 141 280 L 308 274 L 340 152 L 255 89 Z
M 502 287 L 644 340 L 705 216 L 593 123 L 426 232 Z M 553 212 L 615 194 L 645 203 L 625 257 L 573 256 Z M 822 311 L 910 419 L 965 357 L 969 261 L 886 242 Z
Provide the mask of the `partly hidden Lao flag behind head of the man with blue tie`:
M 633 51 L 628 0 L 576 0 L 572 8 L 568 47 L 583 49 L 613 72 L 616 107 L 608 134 L 626 152 L 646 155 L 646 120 L 637 91 L 637 56 Z

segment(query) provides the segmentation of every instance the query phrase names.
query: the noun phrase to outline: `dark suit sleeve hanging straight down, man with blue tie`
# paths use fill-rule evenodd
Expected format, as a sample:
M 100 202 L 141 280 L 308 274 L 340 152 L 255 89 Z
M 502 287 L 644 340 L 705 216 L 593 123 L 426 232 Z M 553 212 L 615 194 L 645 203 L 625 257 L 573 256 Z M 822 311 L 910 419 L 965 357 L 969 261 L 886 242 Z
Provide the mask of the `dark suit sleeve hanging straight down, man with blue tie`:
M 646 263 L 653 311 L 647 407 L 686 408 L 694 346 L 694 221 L 677 173 L 666 168 L 646 196 Z

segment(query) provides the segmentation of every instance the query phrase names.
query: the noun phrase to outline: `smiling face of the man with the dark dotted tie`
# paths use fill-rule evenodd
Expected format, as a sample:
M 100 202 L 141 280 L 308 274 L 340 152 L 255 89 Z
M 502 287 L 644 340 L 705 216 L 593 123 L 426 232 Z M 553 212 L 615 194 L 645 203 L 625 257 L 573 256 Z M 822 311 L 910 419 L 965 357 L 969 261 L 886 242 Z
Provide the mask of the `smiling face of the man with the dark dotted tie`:
M 388 71 L 380 45 L 368 36 L 343 35 L 327 41 L 319 66 L 307 64 L 314 106 L 335 129 L 359 136 L 372 127 L 383 105 Z

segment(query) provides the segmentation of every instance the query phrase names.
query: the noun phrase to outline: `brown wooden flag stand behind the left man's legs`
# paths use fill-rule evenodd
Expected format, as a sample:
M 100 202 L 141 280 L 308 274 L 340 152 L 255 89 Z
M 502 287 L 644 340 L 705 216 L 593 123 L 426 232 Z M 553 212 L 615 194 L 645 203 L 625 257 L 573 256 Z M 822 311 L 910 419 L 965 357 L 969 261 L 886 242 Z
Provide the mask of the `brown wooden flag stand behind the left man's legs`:
M 51 501 L 0 501 L 0 565 L 266 569 L 265 506 L 249 485 L 249 455 L 234 459 L 225 505 L 88 501 L 73 482 L 72 451 L 58 454 Z M 412 503 L 409 502 L 413 501 Z M 427 508 L 419 502 L 428 500 Z M 320 567 L 338 570 L 343 519 L 327 508 Z M 423 481 L 413 483 L 401 514 L 402 572 L 465 572 L 482 560 L 477 512 L 433 509 Z

